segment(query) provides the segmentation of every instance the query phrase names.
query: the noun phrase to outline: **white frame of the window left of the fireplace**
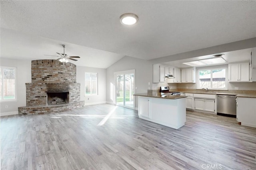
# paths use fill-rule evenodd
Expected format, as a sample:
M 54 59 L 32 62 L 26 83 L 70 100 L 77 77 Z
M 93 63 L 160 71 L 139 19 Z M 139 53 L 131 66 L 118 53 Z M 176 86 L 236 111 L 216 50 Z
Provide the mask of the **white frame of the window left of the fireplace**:
M 14 99 L 4 99 L 4 68 L 10 68 L 10 69 L 14 69 Z M 0 88 L 1 88 L 1 94 L 0 94 L 0 103 L 3 102 L 13 102 L 13 101 L 18 101 L 17 99 L 17 67 L 10 67 L 10 66 L 0 66 L 1 69 L 1 79 L 0 80 Z

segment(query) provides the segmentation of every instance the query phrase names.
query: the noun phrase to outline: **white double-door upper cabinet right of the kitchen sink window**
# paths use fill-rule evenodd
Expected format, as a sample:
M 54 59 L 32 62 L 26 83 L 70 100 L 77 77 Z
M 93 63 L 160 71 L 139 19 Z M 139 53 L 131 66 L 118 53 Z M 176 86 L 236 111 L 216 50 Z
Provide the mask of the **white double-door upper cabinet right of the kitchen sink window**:
M 251 82 L 250 62 L 228 64 L 228 82 Z

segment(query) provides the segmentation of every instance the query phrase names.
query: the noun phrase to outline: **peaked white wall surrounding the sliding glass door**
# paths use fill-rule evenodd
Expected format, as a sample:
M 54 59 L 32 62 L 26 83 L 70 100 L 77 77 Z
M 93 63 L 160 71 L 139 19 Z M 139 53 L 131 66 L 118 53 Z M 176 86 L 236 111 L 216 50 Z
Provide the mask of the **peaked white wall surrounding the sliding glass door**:
M 152 63 L 150 61 L 136 59 L 125 56 L 107 68 L 106 100 L 107 103 L 114 104 L 114 72 L 135 69 L 134 93 L 146 93 L 148 88 L 152 88 Z M 150 85 L 148 85 L 150 82 Z M 138 98 L 135 98 L 135 107 L 138 107 Z

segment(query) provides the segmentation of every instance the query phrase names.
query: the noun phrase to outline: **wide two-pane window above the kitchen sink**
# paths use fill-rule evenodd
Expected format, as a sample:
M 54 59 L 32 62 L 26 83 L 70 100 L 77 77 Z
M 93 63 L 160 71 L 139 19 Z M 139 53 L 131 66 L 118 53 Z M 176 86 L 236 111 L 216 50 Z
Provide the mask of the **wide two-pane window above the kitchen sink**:
M 209 88 L 213 90 L 227 89 L 226 68 L 198 69 L 197 88 Z

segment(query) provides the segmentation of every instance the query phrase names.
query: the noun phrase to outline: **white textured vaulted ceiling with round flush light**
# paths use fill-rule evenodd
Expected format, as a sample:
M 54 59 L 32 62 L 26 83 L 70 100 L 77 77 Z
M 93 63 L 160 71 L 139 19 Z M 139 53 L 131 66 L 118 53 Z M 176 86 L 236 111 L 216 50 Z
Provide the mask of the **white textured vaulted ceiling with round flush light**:
M 68 55 L 87 57 L 77 65 L 156 59 L 256 37 L 255 9 L 256 1 L 1 1 L 1 57 L 43 59 L 66 43 Z M 136 25 L 119 22 L 127 12 Z

